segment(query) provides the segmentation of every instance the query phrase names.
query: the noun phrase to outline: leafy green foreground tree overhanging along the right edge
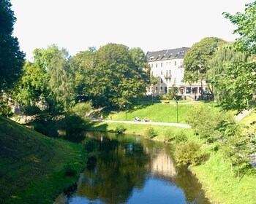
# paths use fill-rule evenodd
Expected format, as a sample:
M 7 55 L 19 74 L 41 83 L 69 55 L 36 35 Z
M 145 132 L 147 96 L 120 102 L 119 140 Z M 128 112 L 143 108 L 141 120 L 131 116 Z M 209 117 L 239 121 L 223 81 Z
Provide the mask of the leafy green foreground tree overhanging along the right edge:
M 222 101 L 224 109 L 235 109 L 242 111 L 250 109 L 248 101 L 255 95 L 256 87 L 256 1 L 246 4 L 244 13 L 237 12 L 236 15 L 224 13 L 225 17 L 231 21 L 237 29 L 235 34 L 240 37 L 236 39 L 233 47 L 240 51 L 252 55 L 250 62 L 231 63 L 225 68 L 216 82 L 219 90 L 225 91 L 225 100 Z

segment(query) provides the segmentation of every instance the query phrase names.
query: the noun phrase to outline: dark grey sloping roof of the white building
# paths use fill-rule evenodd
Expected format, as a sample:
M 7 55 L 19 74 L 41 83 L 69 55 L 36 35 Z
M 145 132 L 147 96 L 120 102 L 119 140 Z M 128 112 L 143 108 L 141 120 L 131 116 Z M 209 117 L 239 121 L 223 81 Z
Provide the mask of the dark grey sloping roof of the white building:
M 184 58 L 184 55 L 187 52 L 187 50 L 189 50 L 189 47 L 147 52 L 148 62 Z

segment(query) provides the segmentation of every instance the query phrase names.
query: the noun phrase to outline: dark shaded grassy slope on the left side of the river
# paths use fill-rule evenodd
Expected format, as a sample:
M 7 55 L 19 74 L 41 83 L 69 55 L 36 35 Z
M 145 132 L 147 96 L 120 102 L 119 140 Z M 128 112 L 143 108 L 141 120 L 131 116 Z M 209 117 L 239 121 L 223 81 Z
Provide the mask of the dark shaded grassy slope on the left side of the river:
M 0 117 L 0 203 L 52 203 L 73 184 L 64 166 L 82 168 L 82 147 Z

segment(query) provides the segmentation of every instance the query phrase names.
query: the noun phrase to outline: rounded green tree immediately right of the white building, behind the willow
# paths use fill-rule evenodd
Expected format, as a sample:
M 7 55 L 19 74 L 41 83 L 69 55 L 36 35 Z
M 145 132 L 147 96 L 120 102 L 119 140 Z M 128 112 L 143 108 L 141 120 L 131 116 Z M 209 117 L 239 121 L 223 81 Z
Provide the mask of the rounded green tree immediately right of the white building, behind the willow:
M 222 44 L 225 44 L 225 41 L 217 37 L 206 37 L 193 44 L 184 57 L 184 80 L 192 83 L 205 79 L 208 60 Z

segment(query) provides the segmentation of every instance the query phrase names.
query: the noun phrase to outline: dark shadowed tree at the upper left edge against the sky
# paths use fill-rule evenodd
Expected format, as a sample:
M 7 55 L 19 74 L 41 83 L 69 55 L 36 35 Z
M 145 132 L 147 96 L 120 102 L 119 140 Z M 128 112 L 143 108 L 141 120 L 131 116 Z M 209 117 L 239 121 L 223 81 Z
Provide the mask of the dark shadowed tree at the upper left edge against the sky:
M 12 87 L 22 74 L 25 54 L 20 51 L 18 39 L 12 36 L 15 16 L 9 0 L 0 1 L 0 91 Z

